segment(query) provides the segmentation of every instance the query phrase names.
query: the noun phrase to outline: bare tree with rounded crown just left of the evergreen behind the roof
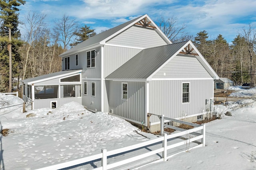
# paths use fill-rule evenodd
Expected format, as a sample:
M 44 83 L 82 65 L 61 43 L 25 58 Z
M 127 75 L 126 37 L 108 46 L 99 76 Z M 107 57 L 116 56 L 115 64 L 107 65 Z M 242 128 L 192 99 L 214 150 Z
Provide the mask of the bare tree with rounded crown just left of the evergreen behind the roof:
M 68 44 L 72 41 L 77 28 L 76 20 L 70 19 L 66 14 L 60 20 L 55 21 L 54 33 L 58 37 L 58 41 L 63 43 L 64 51 L 67 50 Z

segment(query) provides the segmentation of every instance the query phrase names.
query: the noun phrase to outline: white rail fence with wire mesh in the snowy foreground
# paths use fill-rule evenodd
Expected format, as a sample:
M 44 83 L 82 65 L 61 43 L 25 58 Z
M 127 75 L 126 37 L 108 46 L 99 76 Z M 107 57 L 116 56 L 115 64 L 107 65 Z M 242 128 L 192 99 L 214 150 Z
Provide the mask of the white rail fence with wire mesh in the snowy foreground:
M 178 133 L 172 133 L 167 135 L 150 139 L 148 141 L 107 151 L 102 149 L 102 152 L 86 158 L 78 160 L 72 160 L 62 164 L 56 164 L 38 170 L 57 170 L 57 169 L 96 169 L 96 170 L 108 170 L 108 169 L 134 169 L 152 162 L 167 161 L 168 158 L 174 154 L 189 151 L 195 147 L 205 146 L 205 125 L 197 125 L 185 121 L 176 119 L 170 119 L 161 116 L 162 122 L 164 119 L 168 121 L 175 121 L 179 123 L 189 124 L 194 126 L 193 129 L 184 130 L 170 125 L 161 123 L 162 130 L 164 127 L 176 128 L 180 131 Z M 146 159 L 145 159 L 146 158 Z

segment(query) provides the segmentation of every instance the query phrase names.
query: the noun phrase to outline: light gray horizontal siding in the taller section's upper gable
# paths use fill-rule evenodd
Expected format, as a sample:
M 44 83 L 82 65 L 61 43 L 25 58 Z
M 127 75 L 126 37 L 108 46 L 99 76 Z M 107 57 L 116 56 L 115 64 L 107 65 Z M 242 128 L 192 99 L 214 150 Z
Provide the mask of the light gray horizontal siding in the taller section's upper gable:
M 141 48 L 167 45 L 154 29 L 137 26 L 130 27 L 107 43 Z

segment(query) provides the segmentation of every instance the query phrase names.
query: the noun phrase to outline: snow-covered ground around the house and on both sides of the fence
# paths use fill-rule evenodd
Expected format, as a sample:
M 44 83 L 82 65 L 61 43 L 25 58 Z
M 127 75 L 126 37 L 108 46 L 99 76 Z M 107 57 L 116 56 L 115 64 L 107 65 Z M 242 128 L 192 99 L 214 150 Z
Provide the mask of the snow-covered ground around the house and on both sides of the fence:
M 2 129 L 10 129 L 8 136 L 0 136 L 4 170 L 42 168 L 149 140 L 134 133 L 137 128 L 123 119 L 92 113 L 75 102 L 27 113 L 18 105 L 22 102 L 0 94 L 0 123 Z M 8 107 L 13 105 L 18 106 Z M 245 99 L 214 107 L 222 119 L 206 123 L 206 147 L 140 169 L 256 169 L 256 101 Z M 226 116 L 226 111 L 232 116 Z M 33 117 L 26 117 L 29 114 Z

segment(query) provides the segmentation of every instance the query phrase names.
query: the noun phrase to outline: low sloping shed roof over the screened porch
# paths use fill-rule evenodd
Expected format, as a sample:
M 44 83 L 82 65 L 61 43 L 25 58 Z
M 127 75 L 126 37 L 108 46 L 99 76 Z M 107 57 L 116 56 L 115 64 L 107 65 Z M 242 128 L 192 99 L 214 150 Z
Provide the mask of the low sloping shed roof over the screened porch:
M 62 76 L 68 76 L 68 75 L 76 74 L 79 72 L 82 72 L 82 70 L 65 70 L 65 71 L 54 72 L 51 74 L 46 74 L 46 75 L 37 76 L 37 77 L 33 77 L 33 78 L 28 78 L 25 80 L 21 80 L 21 82 L 23 82 L 25 84 L 32 84 L 35 82 L 43 82 L 46 80 L 51 80 L 51 79 L 62 77 Z

